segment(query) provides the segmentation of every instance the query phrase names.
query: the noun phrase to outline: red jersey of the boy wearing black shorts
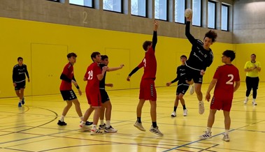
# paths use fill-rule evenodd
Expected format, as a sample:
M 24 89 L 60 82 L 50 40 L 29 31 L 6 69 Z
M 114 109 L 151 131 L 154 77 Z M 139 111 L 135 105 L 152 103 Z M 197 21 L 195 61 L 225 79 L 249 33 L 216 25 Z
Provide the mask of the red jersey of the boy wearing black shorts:
M 66 64 L 66 66 L 64 66 L 62 74 L 66 75 L 66 77 L 68 77 L 69 79 L 73 79 L 73 65 L 70 62 Z M 62 79 L 60 85 L 60 91 L 71 90 L 71 89 L 72 89 L 72 82 L 66 82 Z

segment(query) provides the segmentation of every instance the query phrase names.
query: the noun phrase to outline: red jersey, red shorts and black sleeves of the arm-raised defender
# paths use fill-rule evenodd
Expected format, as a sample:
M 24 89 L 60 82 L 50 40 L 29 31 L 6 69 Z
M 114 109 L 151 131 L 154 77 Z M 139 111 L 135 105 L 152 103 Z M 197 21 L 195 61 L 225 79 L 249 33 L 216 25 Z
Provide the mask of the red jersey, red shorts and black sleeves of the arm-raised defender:
M 143 77 L 140 84 L 139 99 L 157 100 L 157 91 L 155 89 L 155 75 L 157 73 L 157 59 L 155 58 L 155 46 L 157 45 L 157 31 L 154 31 L 152 37 L 152 46 L 145 52 L 143 61 L 131 71 L 129 76 L 136 73 L 140 68 L 144 68 Z

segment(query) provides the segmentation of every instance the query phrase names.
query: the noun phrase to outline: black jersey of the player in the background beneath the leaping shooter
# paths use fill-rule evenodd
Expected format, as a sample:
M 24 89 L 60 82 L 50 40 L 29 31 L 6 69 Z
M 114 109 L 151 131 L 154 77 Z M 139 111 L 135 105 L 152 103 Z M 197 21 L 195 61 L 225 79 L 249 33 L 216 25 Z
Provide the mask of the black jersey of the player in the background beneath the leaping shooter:
M 187 66 L 178 66 L 177 68 L 177 77 L 174 79 L 171 83 L 177 82 L 178 81 L 178 86 L 179 85 L 189 85 L 186 82 L 186 76 L 187 76 Z

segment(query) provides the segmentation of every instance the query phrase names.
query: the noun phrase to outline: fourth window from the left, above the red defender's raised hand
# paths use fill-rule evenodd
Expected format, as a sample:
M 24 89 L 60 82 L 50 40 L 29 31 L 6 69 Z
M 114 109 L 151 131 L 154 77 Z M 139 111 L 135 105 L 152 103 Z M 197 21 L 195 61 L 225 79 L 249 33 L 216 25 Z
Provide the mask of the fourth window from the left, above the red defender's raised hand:
M 167 1 L 155 0 L 155 19 L 166 20 L 167 19 Z

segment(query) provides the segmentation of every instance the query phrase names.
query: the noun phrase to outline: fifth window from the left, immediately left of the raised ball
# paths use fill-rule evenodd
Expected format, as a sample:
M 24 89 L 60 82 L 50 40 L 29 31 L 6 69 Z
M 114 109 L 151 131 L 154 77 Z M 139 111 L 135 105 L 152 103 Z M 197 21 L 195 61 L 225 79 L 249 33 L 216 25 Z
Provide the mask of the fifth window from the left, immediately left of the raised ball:
M 185 0 L 175 0 L 175 22 L 185 23 Z

